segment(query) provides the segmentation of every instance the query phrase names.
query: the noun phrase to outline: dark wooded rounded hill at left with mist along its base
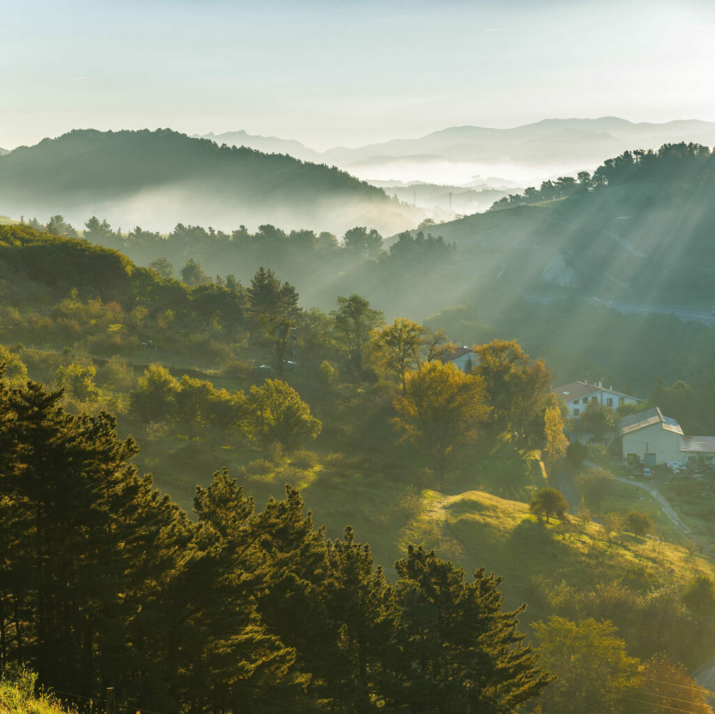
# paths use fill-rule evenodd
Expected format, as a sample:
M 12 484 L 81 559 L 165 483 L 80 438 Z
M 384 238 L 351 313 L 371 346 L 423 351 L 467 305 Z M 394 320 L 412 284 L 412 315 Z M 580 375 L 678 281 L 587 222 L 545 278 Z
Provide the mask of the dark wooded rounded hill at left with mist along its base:
M 92 215 L 115 226 L 226 230 L 245 224 L 344 232 L 414 227 L 424 214 L 346 172 L 250 148 L 219 147 L 168 129 L 75 130 L 0 157 L 0 213 L 78 227 Z

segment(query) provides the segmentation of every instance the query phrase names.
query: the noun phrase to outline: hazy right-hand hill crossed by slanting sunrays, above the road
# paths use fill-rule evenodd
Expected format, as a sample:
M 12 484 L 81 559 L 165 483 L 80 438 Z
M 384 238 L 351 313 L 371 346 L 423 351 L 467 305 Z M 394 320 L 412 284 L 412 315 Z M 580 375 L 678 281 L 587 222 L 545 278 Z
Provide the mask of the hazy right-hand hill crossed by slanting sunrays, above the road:
M 509 207 L 504 199 L 498 207 L 506 209 L 430 230 L 455 242 L 476 282 L 497 292 L 709 308 L 715 302 L 712 156 L 696 145 L 666 146 L 652 154 L 648 170 L 638 169 L 635 156 L 608 159 L 603 171 L 586 174 L 586 184 L 572 182 L 562 198 L 548 184 L 528 189 L 533 198 L 526 204 Z

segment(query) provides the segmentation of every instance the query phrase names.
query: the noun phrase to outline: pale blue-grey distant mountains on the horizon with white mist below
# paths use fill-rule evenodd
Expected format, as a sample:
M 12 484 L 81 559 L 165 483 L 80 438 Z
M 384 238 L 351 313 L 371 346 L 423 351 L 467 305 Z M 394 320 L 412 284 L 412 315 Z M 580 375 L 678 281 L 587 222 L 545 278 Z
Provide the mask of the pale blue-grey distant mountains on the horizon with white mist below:
M 207 134 L 205 138 L 335 165 L 365 180 L 466 184 L 474 174 L 482 174 L 524 185 L 595 167 L 626 149 L 656 149 L 666 142 L 681 141 L 711 147 L 715 123 L 691 119 L 636 124 L 616 116 L 543 119 L 513 129 L 449 127 L 418 139 L 335 147 L 322 153 L 300 142 L 252 137 L 245 132 Z

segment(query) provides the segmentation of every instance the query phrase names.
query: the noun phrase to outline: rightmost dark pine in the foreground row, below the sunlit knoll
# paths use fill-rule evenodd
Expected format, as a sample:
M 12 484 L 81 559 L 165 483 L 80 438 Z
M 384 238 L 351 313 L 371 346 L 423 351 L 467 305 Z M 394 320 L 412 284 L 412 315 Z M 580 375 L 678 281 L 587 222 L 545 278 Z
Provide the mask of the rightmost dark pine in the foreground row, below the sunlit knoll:
M 517 630 L 526 605 L 502 610 L 501 577 L 481 568 L 468 582 L 463 570 L 413 545 L 395 569 L 395 705 L 415 714 L 506 714 L 551 681 Z

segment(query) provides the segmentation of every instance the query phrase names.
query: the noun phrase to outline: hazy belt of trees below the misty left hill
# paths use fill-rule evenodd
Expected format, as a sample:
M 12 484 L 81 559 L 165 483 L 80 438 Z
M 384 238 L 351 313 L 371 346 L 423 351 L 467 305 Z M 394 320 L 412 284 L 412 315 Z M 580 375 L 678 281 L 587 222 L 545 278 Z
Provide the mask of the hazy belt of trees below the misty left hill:
M 30 219 L 29 224 L 39 231 L 77 236 L 61 216 L 46 224 Z M 248 282 L 262 265 L 270 265 L 304 285 L 310 304 L 322 307 L 335 294 L 369 291 L 373 302 L 394 305 L 395 312 L 404 312 L 415 299 L 436 309 L 445 284 L 458 284 L 463 277 L 455 245 L 422 230 L 403 232 L 386 248 L 383 236 L 365 226 L 353 227 L 340 238 L 307 229 L 285 232 L 270 224 L 255 232 L 240 226 L 230 233 L 177 224 L 162 235 L 141 227 L 114 230 L 106 220 L 92 217 L 83 237 L 188 284 L 221 284 L 227 274 Z

